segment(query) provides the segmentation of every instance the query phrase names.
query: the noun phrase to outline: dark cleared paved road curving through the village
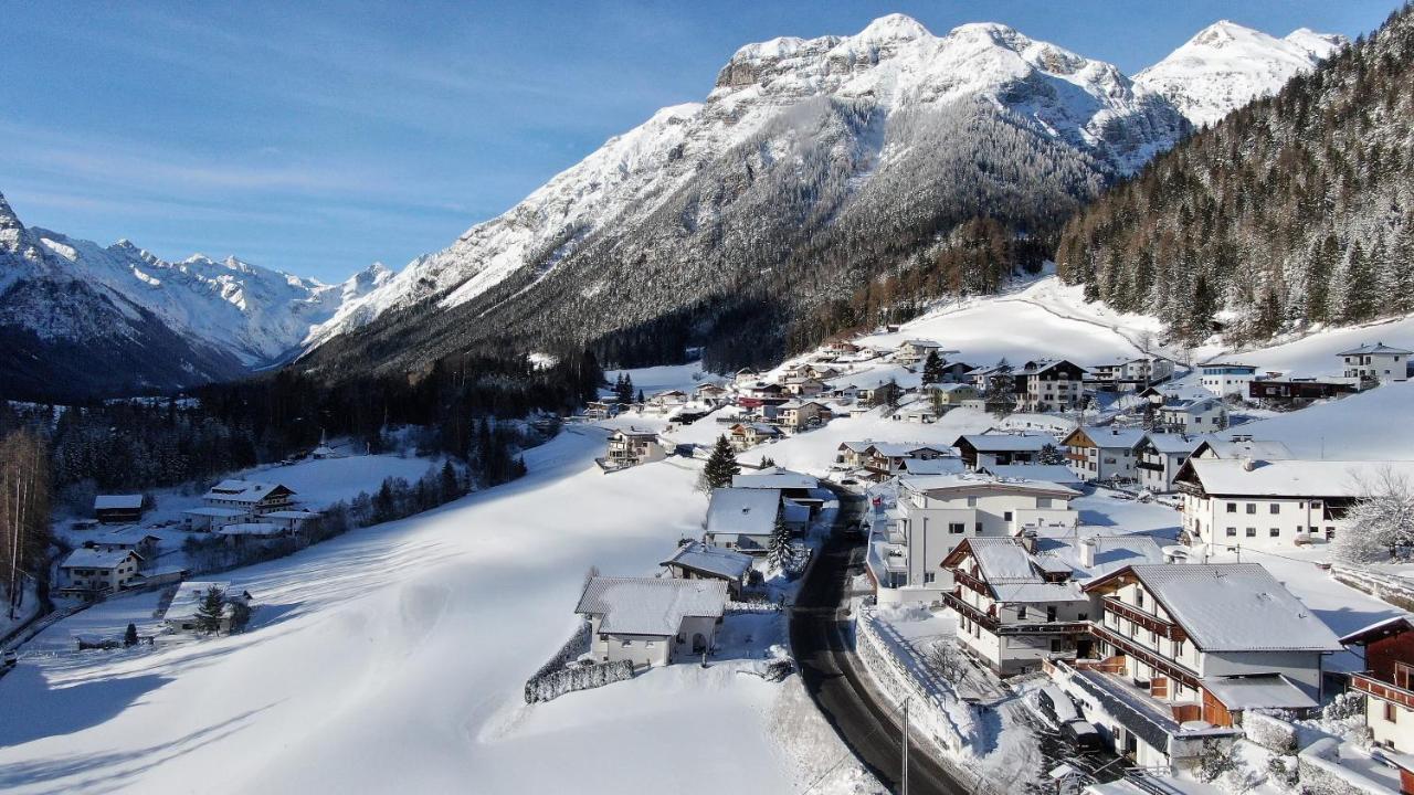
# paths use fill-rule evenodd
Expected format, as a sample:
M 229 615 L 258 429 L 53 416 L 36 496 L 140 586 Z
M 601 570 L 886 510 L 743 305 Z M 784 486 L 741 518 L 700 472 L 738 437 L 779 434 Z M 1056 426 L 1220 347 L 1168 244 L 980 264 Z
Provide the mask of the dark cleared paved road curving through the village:
M 844 508 L 844 505 L 841 505 Z M 841 509 L 840 525 L 857 522 L 858 513 Z M 814 703 L 855 755 L 895 792 L 899 788 L 902 731 L 894 704 L 868 679 L 841 621 L 840 598 L 850 563 L 863 553 L 857 540 L 836 532 L 810 569 L 790 614 L 790 645 L 800 678 Z M 963 795 L 957 784 L 923 748 L 909 753 L 909 795 Z

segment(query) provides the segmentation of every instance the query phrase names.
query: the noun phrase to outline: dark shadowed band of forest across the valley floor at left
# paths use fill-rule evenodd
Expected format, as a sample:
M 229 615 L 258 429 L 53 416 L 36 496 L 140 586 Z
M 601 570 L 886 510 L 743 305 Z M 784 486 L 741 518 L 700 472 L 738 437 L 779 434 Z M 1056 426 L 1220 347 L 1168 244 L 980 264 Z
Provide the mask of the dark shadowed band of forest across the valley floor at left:
M 465 461 L 478 485 L 515 477 L 518 451 L 539 439 L 503 419 L 559 414 L 592 399 L 604 373 L 592 354 L 536 366 L 525 356 L 438 361 L 417 379 L 324 383 L 281 371 L 211 385 L 185 398 L 76 406 L 0 403 L 0 433 L 27 429 L 45 440 L 52 482 L 66 502 L 96 491 L 204 481 L 301 455 L 321 434 L 382 451 L 385 431 L 419 426 L 420 454 Z M 553 429 L 551 429 L 553 430 Z

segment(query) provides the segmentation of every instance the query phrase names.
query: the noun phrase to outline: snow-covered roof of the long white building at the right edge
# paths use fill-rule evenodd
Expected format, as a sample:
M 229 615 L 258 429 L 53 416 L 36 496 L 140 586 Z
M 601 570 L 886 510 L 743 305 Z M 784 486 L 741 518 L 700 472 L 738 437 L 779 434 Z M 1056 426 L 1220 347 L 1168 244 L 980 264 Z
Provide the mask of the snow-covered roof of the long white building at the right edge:
M 1247 467 L 1251 467 L 1250 470 Z M 1414 480 L 1414 461 L 1305 461 L 1189 458 L 1191 468 L 1212 495 L 1237 497 L 1360 497 L 1383 468 Z

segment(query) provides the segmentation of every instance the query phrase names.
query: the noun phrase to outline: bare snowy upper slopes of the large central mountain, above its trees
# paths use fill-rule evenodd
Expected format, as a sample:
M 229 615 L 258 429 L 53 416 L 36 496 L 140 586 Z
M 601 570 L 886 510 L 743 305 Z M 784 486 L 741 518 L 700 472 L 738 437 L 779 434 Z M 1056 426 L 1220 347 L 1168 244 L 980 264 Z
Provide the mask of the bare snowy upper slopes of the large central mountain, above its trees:
M 721 69 L 706 102 L 666 108 L 611 139 L 505 215 L 472 226 L 448 249 L 413 260 L 386 286 L 341 308 L 310 335 L 308 345 L 428 297 L 438 297 L 437 307 L 444 310 L 465 304 L 512 274 L 518 274 L 515 293 L 498 301 L 516 297 L 597 236 L 639 231 L 660 239 L 666 233 L 670 242 L 714 231 L 730 239 L 731 231 L 721 228 L 728 225 L 731 202 L 754 181 L 769 181 L 772 175 L 762 168 L 796 158 L 802 161 L 800 190 L 834 188 L 810 182 L 809 161 L 829 157 L 840 173 L 830 178 L 840 180 L 841 197 L 860 197 L 880 182 L 889 185 L 889 201 L 916 201 L 919 191 L 911 188 L 922 185 L 909 185 L 898 174 L 918 171 L 926 150 L 937 149 L 929 143 L 930 133 L 943 134 L 947 122 L 976 113 L 978 103 L 1036 139 L 1083 156 L 1089 166 L 1082 171 L 1102 174 L 1137 168 L 1185 129 L 1171 105 L 1113 65 L 998 24 L 967 24 L 937 37 L 894 14 L 857 35 L 749 44 Z M 816 144 L 819 150 L 802 151 Z M 732 151 L 762 163 L 745 175 L 727 174 L 723 161 Z M 1099 184 L 1077 182 L 1080 192 Z M 689 191 L 706 192 L 704 184 L 720 190 L 683 207 L 670 204 Z M 814 222 L 837 211 L 820 209 Z M 663 229 L 666 219 L 655 214 L 670 215 L 676 229 Z M 605 243 L 614 252 L 604 256 L 624 262 L 665 253 L 648 250 L 652 246 L 643 240 L 631 246 Z M 703 259 L 683 256 L 683 267 Z M 608 287 L 581 283 L 566 293 L 590 298 Z

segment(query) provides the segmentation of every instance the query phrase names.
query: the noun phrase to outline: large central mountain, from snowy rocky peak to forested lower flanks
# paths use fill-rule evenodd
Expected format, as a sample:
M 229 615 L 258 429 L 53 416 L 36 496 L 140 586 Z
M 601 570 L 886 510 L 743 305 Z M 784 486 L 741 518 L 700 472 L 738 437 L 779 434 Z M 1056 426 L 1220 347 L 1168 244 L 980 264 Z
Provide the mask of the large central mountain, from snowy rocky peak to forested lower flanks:
M 349 304 L 303 366 L 417 369 L 492 338 L 590 341 L 611 362 L 711 341 L 723 364 L 769 361 L 803 311 L 902 265 L 984 248 L 997 256 L 933 282 L 994 290 L 1186 130 L 1113 65 L 997 24 L 939 37 L 891 16 L 751 44 L 706 102 L 660 110 Z

